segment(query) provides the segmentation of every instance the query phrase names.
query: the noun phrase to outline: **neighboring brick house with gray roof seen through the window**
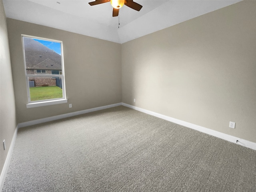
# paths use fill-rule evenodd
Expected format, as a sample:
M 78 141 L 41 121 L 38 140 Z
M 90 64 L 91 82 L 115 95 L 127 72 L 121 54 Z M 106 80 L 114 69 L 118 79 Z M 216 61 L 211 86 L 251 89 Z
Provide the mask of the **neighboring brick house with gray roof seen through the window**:
M 61 56 L 40 42 L 24 37 L 24 52 L 27 74 L 61 74 Z M 56 86 L 52 77 L 30 77 L 34 86 Z

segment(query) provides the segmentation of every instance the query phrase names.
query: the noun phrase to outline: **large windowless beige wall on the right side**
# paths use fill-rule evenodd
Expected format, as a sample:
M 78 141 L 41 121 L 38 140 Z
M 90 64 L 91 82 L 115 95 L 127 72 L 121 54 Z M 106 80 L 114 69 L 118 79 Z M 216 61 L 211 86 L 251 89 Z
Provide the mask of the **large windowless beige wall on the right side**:
M 122 44 L 122 102 L 256 142 L 255 18 L 242 1 Z

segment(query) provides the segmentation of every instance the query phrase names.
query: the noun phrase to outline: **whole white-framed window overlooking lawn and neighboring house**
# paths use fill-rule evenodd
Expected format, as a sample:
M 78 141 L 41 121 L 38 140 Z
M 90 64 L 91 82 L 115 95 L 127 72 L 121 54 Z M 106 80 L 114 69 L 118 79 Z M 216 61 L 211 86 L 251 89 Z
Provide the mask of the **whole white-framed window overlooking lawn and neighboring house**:
M 66 103 L 62 42 L 22 35 L 27 108 Z

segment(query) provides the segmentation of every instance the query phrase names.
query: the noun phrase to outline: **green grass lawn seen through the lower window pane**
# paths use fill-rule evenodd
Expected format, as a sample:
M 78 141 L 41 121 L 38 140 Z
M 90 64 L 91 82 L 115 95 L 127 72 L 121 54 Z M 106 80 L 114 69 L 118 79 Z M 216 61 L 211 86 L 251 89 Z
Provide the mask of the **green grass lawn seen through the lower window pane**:
M 62 98 L 62 89 L 57 86 L 30 87 L 30 100 Z

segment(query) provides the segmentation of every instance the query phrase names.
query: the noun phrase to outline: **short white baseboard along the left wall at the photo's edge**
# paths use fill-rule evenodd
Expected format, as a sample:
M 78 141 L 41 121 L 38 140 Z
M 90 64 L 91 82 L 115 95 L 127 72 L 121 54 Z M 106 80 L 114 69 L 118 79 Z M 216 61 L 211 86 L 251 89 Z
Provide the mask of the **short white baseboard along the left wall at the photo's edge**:
M 16 129 L 14 131 L 14 134 L 12 136 L 12 142 L 10 144 L 10 148 L 9 148 L 8 154 L 7 154 L 6 160 L 4 162 L 4 167 L 3 167 L 3 170 L 1 172 L 1 176 L 0 176 L 0 191 L 2 191 L 3 187 L 4 187 L 4 181 L 5 181 L 6 174 L 7 174 L 7 171 L 8 171 L 8 167 L 9 167 L 9 164 L 10 164 L 10 161 L 11 161 L 12 151 L 13 151 L 13 148 L 14 148 L 17 132 L 18 132 L 18 126 L 16 127 Z

